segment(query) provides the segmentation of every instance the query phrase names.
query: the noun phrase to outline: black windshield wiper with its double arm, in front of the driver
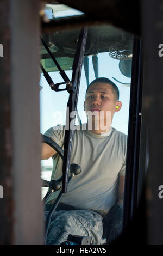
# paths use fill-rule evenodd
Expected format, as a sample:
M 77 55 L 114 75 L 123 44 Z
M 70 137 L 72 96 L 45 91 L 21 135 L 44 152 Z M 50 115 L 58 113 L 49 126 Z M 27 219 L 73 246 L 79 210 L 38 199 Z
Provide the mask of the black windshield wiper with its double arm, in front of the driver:
M 85 44 L 86 44 L 86 36 L 87 36 L 87 28 L 82 28 L 79 34 L 76 54 L 73 60 L 71 81 L 67 77 L 65 71 L 61 69 L 60 65 L 58 64 L 57 60 L 53 56 L 52 52 L 49 50 L 45 41 L 43 41 L 43 39 L 41 38 L 43 46 L 46 48 L 49 56 L 52 58 L 53 62 L 57 66 L 58 70 L 60 71 L 60 75 L 66 83 L 66 88 L 59 89 L 60 84 L 64 84 L 64 83 L 55 84 L 52 81 L 52 78 L 49 76 L 48 72 L 46 72 L 46 70 L 43 68 L 42 64 L 40 63 L 40 68 L 43 72 L 43 75 L 45 76 L 52 90 L 55 90 L 56 92 L 61 90 L 67 90 L 67 92 L 70 94 L 67 102 L 67 112 L 66 112 L 64 160 L 63 160 L 63 167 L 62 167 L 62 174 L 63 174 L 62 193 L 67 193 L 68 173 L 70 169 L 70 157 L 71 157 L 71 148 L 72 148 L 72 141 L 73 141 L 73 130 L 74 130 L 74 129 L 70 129 L 70 124 L 74 127 L 76 114 L 77 114 L 78 121 L 80 122 L 80 125 L 82 125 L 82 121 L 79 119 L 79 115 L 77 113 L 77 103 L 78 103 L 80 76 L 82 72 L 82 64 L 83 64 Z M 69 115 L 69 113 L 76 113 L 76 114 L 74 114 L 73 117 L 70 117 L 71 115 Z

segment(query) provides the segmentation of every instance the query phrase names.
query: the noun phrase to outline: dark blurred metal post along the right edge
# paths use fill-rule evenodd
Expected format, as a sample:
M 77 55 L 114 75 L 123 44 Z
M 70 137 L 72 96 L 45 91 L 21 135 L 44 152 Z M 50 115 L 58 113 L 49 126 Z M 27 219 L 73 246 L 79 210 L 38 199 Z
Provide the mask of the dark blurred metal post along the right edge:
M 162 245 L 163 199 L 159 186 L 163 185 L 163 57 L 159 45 L 163 43 L 162 1 L 142 1 L 142 34 L 145 59 L 143 115 L 148 130 L 149 164 L 146 183 L 147 244 Z

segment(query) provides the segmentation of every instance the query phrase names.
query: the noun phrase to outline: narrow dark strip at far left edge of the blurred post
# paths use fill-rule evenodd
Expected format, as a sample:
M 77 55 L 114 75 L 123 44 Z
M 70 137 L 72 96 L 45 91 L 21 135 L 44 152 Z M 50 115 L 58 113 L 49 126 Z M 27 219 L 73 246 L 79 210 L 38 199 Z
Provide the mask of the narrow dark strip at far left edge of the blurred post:
M 0 245 L 9 245 L 12 241 L 13 198 L 12 198 L 12 138 L 11 138 L 11 95 L 10 95 L 10 27 L 9 0 L 0 1 L 0 43 L 3 54 L 0 57 L 0 185 L 3 198 L 0 198 Z M 1 47 L 2 50 L 2 47 Z M 2 52 L 1 52 L 2 53 Z

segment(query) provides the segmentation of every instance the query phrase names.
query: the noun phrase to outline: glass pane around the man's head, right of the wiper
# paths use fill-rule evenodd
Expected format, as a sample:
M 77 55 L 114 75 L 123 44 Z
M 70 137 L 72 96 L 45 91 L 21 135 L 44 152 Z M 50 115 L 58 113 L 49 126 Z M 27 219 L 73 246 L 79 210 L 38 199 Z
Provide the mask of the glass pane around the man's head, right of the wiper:
M 132 52 L 132 35 L 107 25 L 90 28 L 87 36 L 78 100 L 78 112 L 82 123 L 86 122 L 83 102 L 87 85 L 97 77 L 107 77 L 116 83 L 120 91 L 120 101 L 122 101 L 121 111 L 114 115 L 112 126 L 127 135 Z M 88 70 L 86 62 L 89 63 Z M 96 71 L 97 66 L 98 72 Z M 86 76 L 86 74 L 89 75 Z

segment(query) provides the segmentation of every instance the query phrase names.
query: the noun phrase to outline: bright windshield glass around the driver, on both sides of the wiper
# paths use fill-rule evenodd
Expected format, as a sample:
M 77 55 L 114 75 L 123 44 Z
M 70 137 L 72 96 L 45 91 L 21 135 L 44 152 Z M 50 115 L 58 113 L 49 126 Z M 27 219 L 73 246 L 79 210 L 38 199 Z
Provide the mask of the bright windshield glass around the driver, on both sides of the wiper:
M 71 29 L 71 31 L 55 31 L 53 34 L 42 36 L 70 80 L 79 33 L 80 29 Z M 53 82 L 55 84 L 64 82 L 42 45 L 40 52 L 41 63 Z M 83 124 L 87 122 L 84 112 L 87 86 L 95 78 L 106 77 L 118 87 L 119 101 L 122 102 L 121 111 L 114 114 L 111 127 L 125 135 L 128 134 L 132 56 L 133 35 L 110 25 L 88 28 L 77 105 L 79 117 Z M 40 130 L 41 133 L 45 133 L 50 127 L 58 124 L 65 125 L 69 94 L 67 91 L 54 92 L 51 90 L 42 72 L 40 86 Z M 60 88 L 65 88 L 65 85 Z M 76 125 L 78 124 L 79 121 L 76 119 Z M 118 160 L 116 161 L 118 164 Z M 41 161 L 42 179 L 51 179 L 53 164 L 52 158 Z M 45 196 L 46 192 L 47 188 L 42 188 L 42 197 Z

